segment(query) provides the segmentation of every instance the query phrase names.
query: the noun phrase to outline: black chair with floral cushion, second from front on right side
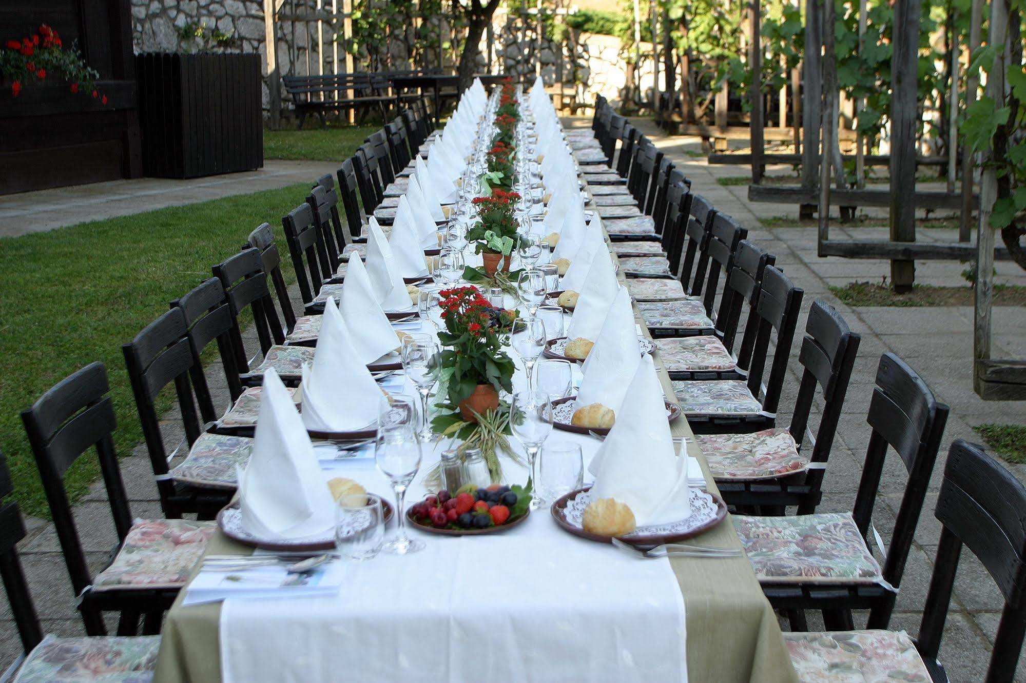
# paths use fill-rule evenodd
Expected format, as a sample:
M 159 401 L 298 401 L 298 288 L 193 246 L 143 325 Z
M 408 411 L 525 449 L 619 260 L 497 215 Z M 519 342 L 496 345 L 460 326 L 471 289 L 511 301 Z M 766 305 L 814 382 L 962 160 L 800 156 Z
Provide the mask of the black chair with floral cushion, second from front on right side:
M 775 608 L 788 610 L 794 631 L 806 630 L 806 609 L 823 610 L 829 630 L 853 629 L 853 609 L 869 610 L 866 628 L 886 628 L 947 417 L 948 407 L 935 400 L 915 371 L 885 353 L 869 404 L 866 420 L 872 434 L 853 512 L 734 516 L 763 592 Z M 881 568 L 866 539 L 889 447 L 901 458 L 908 479 L 890 546 L 880 549 Z M 805 550 L 810 545 L 816 553 Z

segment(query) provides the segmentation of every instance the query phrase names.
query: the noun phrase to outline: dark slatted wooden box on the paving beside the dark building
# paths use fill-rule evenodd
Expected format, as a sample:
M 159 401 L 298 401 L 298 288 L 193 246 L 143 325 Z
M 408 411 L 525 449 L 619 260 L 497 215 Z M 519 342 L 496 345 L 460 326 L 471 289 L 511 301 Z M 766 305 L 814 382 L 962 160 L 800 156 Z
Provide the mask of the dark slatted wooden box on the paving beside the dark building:
M 256 54 L 139 54 L 143 171 L 200 177 L 264 165 Z

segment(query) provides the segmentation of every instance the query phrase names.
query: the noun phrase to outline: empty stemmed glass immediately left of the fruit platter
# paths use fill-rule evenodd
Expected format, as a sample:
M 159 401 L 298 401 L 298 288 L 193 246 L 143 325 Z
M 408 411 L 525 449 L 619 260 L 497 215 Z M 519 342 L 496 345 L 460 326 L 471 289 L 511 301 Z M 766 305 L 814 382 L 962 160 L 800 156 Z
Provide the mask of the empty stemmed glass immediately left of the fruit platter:
M 406 535 L 403 500 L 406 487 L 421 469 L 421 441 L 417 438 L 417 404 L 411 396 L 383 396 L 378 408 L 378 437 L 374 439 L 374 463 L 388 477 L 395 491 L 396 534 L 383 550 L 406 555 L 424 550 L 424 541 Z

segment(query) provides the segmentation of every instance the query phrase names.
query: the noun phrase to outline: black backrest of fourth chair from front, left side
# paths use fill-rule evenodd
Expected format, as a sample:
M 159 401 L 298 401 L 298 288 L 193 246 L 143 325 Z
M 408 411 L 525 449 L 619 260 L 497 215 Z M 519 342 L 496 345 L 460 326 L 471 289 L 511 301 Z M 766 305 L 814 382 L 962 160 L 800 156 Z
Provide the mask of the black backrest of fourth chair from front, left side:
M 228 306 L 228 296 L 225 295 L 221 280 L 210 278 L 182 298 L 171 302 L 171 308 L 175 307 L 182 309 L 186 315 L 189 348 L 193 355 L 190 377 L 196 403 L 199 405 L 199 414 L 204 423 L 212 423 L 221 413 L 214 408 L 210 387 L 203 372 L 201 355 L 211 342 L 218 343 L 218 353 L 221 355 L 221 364 L 225 370 L 231 400 L 234 402 L 242 394 L 238 364 L 232 350 L 232 330 L 235 328 L 235 321 L 232 318 L 231 307 Z

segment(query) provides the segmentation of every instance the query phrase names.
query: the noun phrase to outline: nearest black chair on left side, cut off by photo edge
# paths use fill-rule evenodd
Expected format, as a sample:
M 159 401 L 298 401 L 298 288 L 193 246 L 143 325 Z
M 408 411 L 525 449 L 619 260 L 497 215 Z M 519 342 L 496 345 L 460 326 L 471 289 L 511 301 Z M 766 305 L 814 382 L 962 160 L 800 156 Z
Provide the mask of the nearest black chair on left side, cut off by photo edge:
M 0 454 L 0 498 L 10 495 L 12 488 L 7 463 Z M 156 668 L 160 636 L 117 639 L 101 636 L 43 637 L 42 625 L 17 557 L 17 543 L 25 535 L 25 523 L 17 505 L 6 503 L 0 506 L 0 576 L 22 641 L 22 653 L 0 678 L 9 681 L 21 676 L 18 680 L 49 681 L 54 680 L 58 675 L 55 672 L 63 666 L 89 661 L 93 666 L 103 665 L 101 671 L 95 672 L 97 678 L 112 673 L 121 676 L 134 674 L 140 680 L 149 680 Z M 69 653 L 73 653 L 72 660 L 69 660 Z M 84 671 L 76 671 L 75 680 L 94 680 L 85 676 Z

